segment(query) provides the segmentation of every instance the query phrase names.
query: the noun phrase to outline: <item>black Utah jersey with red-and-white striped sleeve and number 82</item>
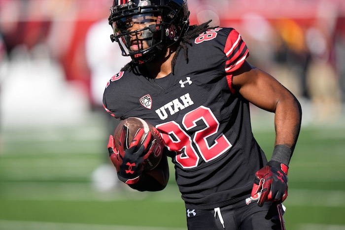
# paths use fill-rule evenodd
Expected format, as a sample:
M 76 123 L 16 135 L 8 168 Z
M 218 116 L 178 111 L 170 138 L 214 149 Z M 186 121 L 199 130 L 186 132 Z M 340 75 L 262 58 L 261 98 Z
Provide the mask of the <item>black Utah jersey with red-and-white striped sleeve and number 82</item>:
M 232 28 L 209 30 L 187 46 L 188 62 L 181 50 L 174 74 L 164 78 L 138 69 L 114 75 L 104 108 L 161 131 L 186 208 L 221 207 L 250 197 L 254 174 L 267 163 L 251 131 L 249 102 L 231 83 L 249 53 Z

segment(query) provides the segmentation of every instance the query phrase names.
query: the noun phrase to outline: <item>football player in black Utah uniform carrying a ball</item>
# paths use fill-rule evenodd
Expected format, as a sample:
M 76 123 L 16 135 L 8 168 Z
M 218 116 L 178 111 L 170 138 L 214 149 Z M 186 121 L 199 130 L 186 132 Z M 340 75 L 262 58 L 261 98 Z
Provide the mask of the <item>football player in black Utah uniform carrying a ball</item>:
M 119 178 L 138 191 L 162 190 L 170 157 L 188 229 L 284 229 L 298 100 L 246 61 L 248 48 L 235 29 L 190 26 L 186 0 L 114 0 L 110 11 L 111 40 L 132 61 L 109 80 L 104 108 L 117 119 L 151 123 L 166 146 L 160 164 L 145 171 L 147 143 L 119 151 L 110 138 Z M 269 161 L 252 134 L 249 102 L 275 113 Z

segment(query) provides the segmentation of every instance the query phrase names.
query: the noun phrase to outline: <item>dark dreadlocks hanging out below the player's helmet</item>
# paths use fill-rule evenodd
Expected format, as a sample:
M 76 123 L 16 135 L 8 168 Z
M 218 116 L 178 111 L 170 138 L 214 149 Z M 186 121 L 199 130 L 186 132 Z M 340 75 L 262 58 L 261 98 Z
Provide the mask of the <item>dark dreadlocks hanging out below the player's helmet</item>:
M 188 47 L 186 44 L 192 45 L 192 42 L 190 41 L 191 39 L 199 36 L 201 33 L 205 33 L 207 32 L 207 30 L 211 30 L 211 29 L 215 29 L 217 27 L 210 27 L 208 24 L 211 22 L 212 20 L 209 20 L 208 22 L 205 22 L 201 25 L 193 25 L 190 26 L 188 31 L 181 37 L 179 45 L 176 49 L 176 53 L 173 56 L 173 60 L 172 60 L 172 73 L 174 73 L 174 66 L 176 63 L 176 59 L 177 56 L 180 52 L 181 49 L 183 49 L 184 51 L 184 60 L 186 60 L 186 62 L 188 63 Z M 126 66 L 121 68 L 121 71 L 126 71 L 126 70 L 132 70 L 134 69 L 134 66 L 136 66 L 136 64 L 131 61 L 130 63 L 128 63 Z

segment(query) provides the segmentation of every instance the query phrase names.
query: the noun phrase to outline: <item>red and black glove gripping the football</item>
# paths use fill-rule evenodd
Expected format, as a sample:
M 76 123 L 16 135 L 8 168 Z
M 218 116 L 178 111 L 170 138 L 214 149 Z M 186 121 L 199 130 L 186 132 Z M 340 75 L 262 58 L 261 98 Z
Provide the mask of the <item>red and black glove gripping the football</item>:
M 146 136 L 140 143 L 143 135 Z M 151 132 L 145 134 L 143 129 L 139 129 L 133 141 L 129 143 L 128 128 L 123 126 L 118 150 L 115 148 L 114 137 L 109 136 L 108 151 L 110 160 L 116 167 L 118 178 L 126 184 L 138 182 L 144 169 L 145 160 L 152 152 L 151 135 Z

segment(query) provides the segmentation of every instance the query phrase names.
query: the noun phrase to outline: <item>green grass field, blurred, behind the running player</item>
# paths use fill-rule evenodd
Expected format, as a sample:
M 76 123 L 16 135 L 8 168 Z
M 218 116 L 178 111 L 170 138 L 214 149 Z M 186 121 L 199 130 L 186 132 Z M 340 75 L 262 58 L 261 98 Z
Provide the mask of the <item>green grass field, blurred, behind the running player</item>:
M 106 154 L 99 125 L 1 131 L 0 230 L 186 229 L 172 170 L 161 192 L 94 189 L 92 172 Z M 270 153 L 273 129 L 253 127 Z M 344 125 L 302 128 L 284 202 L 288 230 L 345 230 L 344 163 Z

